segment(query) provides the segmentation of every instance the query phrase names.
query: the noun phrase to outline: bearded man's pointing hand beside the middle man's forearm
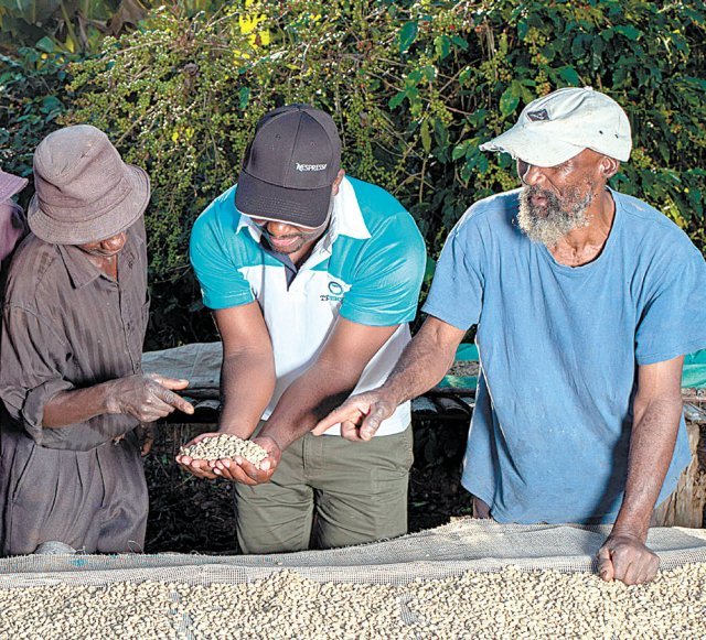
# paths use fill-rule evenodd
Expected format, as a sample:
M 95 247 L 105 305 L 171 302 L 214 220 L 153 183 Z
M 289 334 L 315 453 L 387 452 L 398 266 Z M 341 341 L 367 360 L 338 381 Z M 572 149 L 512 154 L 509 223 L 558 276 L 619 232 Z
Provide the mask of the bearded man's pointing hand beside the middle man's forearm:
M 379 391 L 367 391 L 352 395 L 334 409 L 311 430 L 321 435 L 334 424 L 341 423 L 341 435 L 345 440 L 362 442 L 371 440 L 384 420 L 395 413 L 397 404 Z

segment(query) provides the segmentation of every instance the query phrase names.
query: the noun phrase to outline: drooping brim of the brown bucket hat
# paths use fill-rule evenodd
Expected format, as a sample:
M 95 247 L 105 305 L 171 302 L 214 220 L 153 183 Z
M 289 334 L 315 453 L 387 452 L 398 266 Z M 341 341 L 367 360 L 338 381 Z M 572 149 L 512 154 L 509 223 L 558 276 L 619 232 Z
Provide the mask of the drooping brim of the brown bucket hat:
M 62 221 L 49 216 L 34 194 L 26 213 L 31 231 L 52 245 L 86 245 L 125 231 L 140 218 L 150 202 L 147 172 L 132 164 L 126 164 L 126 177 L 131 186 L 128 195 L 103 215 L 86 221 Z

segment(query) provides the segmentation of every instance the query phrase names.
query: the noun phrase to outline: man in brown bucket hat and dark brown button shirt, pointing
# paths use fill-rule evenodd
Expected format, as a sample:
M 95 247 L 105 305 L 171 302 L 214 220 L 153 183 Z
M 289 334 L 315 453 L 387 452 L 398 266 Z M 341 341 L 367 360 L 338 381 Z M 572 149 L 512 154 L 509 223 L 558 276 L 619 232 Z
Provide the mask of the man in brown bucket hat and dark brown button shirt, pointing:
M 3 554 L 139 551 L 148 497 L 136 427 L 185 380 L 141 371 L 145 171 L 89 126 L 34 154 L 31 235 L 9 270 L 0 370 Z

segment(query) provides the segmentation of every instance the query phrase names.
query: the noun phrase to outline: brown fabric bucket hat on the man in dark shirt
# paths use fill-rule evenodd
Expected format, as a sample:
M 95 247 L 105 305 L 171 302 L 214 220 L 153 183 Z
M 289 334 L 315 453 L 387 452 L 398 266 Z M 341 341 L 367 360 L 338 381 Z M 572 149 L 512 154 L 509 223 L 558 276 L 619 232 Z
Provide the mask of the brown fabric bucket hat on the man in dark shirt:
M 126 164 L 108 137 L 89 124 L 50 133 L 34 152 L 32 232 L 53 245 L 85 245 L 125 231 L 145 213 L 150 181 Z

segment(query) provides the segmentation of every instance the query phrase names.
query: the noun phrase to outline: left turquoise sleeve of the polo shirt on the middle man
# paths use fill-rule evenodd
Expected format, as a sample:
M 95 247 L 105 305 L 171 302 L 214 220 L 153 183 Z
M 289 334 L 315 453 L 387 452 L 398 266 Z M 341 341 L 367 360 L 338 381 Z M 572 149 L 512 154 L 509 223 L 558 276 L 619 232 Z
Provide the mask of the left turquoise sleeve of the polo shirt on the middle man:
M 199 216 L 191 231 L 189 257 L 201 284 L 203 303 L 208 308 L 228 308 L 255 300 L 240 272 L 235 220 L 238 213 L 234 189 L 216 198 Z

